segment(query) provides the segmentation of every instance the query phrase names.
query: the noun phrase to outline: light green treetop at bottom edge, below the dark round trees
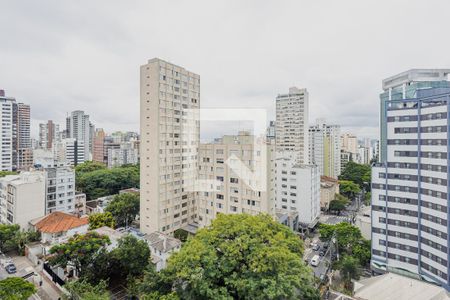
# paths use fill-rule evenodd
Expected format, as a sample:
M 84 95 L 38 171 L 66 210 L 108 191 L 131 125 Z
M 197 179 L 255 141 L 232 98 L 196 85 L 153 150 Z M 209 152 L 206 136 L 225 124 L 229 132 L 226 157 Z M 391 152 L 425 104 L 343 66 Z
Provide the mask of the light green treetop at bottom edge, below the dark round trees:
M 70 281 L 64 285 L 69 295 L 67 300 L 109 300 L 110 294 L 106 281 L 100 280 L 97 285 L 92 285 L 86 280 Z

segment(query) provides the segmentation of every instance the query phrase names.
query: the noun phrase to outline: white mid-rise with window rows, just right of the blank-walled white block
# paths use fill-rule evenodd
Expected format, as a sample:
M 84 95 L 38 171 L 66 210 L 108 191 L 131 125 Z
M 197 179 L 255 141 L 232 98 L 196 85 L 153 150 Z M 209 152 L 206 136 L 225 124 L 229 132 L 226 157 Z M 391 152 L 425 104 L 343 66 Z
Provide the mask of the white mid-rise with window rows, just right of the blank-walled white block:
M 45 213 L 74 213 L 75 170 L 68 166 L 45 168 Z

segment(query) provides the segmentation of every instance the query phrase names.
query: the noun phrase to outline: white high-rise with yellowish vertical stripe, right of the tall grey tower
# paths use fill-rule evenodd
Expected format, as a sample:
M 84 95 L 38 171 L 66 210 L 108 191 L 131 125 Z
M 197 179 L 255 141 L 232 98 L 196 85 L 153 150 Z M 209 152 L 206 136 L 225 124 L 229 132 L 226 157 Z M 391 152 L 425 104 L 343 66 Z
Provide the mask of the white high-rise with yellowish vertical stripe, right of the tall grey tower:
M 341 141 L 339 125 L 323 120 L 309 127 L 309 163 L 317 165 L 321 175 L 337 178 L 341 174 Z

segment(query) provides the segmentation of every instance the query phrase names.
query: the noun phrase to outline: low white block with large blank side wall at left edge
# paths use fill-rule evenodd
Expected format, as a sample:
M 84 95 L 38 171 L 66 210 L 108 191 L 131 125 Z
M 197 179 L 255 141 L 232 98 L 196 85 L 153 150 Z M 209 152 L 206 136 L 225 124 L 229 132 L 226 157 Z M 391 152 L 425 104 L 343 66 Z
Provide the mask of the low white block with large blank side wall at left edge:
M 28 228 L 30 220 L 45 215 L 45 175 L 22 172 L 0 178 L 0 223 Z

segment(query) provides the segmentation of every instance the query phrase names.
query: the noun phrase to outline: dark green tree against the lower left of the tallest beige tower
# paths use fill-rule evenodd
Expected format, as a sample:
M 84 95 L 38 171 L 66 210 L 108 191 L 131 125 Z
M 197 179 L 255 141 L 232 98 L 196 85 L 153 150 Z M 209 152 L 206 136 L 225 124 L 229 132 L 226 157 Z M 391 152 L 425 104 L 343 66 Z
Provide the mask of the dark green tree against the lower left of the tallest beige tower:
M 139 195 L 119 194 L 114 196 L 105 211 L 112 214 L 118 227 L 128 226 L 139 214 L 139 202 Z

